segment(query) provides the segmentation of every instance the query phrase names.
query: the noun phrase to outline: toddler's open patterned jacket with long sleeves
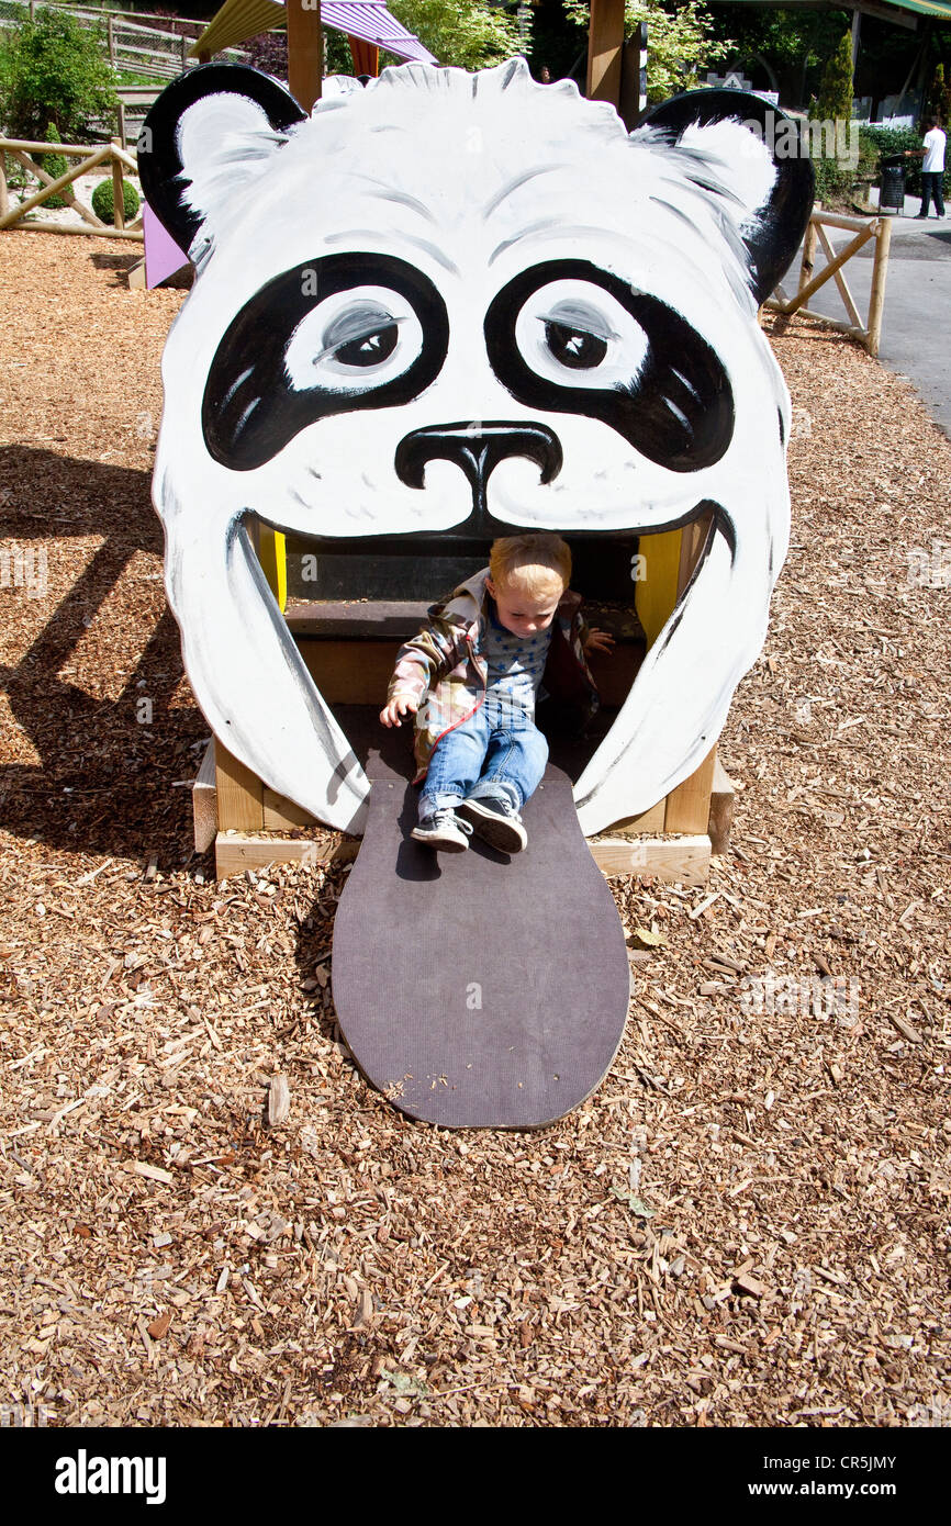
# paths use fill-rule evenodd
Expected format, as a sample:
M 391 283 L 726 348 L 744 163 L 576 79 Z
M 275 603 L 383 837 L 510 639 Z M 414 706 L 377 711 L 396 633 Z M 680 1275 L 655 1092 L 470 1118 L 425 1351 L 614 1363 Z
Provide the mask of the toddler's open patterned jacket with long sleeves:
M 426 777 L 437 742 L 475 714 L 485 699 L 488 664 L 484 642 L 488 626 L 488 589 L 482 568 L 461 583 L 449 598 L 432 604 L 427 623 L 397 655 L 388 700 L 412 694 L 415 717 L 414 783 Z M 598 708 L 595 682 L 585 661 L 588 626 L 580 613 L 582 595 L 565 589 L 551 623 L 551 644 L 542 684 L 551 696 L 548 708 L 559 720 L 585 725 Z

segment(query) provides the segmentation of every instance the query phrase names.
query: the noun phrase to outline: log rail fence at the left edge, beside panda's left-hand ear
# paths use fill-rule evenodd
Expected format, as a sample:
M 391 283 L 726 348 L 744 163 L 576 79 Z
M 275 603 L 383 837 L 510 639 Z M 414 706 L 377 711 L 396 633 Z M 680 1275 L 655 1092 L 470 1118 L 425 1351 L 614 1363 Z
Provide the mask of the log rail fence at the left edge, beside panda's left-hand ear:
M 11 204 L 6 182 L 8 154 L 40 182 L 40 189 L 15 206 Z M 46 154 L 61 154 L 64 159 L 78 159 L 79 163 L 73 169 L 67 169 L 64 175 L 53 179 L 46 172 L 43 165 L 37 162 L 38 156 Z M 90 174 L 92 169 L 98 169 L 101 165 L 108 163 L 111 163 L 113 171 L 114 214 L 111 224 L 104 223 L 102 218 L 96 217 L 93 209 L 79 201 L 76 194 L 72 191 L 75 180 L 81 175 Z M 98 148 L 93 148 L 89 143 L 35 143 L 27 139 L 0 137 L 0 232 L 6 227 L 20 227 L 44 233 L 98 233 L 99 238 L 133 238 L 137 243 L 142 243 L 142 220 L 136 218 L 136 221 L 128 227 L 125 226 L 125 211 L 122 201 L 124 169 L 131 169 L 131 172 L 136 174 L 137 165 L 134 156 L 122 148 L 119 139 L 113 139 L 111 143 L 101 143 Z M 82 221 L 78 224 L 50 223 L 46 220 L 23 221 L 27 212 L 43 206 L 50 195 L 63 195 L 67 206 L 78 212 Z

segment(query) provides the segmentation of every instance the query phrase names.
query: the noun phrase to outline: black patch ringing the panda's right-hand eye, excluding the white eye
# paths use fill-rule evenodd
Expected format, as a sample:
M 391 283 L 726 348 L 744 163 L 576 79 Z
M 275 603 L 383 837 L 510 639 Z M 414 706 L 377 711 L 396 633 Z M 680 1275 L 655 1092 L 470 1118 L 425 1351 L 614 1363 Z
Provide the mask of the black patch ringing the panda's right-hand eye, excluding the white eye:
M 525 302 L 554 281 L 583 281 L 608 291 L 640 325 L 646 354 L 629 383 L 572 386 L 568 371 L 594 372 L 606 353 L 597 336 L 565 324 L 546 325 L 551 356 L 565 382 L 534 371 L 516 339 Z M 609 424 L 649 461 L 672 472 L 698 472 L 721 459 L 733 438 L 733 392 L 710 345 L 673 308 L 632 291 L 626 282 L 585 259 L 551 259 L 502 287 L 485 314 L 485 348 L 496 377 L 527 407 L 583 414 Z

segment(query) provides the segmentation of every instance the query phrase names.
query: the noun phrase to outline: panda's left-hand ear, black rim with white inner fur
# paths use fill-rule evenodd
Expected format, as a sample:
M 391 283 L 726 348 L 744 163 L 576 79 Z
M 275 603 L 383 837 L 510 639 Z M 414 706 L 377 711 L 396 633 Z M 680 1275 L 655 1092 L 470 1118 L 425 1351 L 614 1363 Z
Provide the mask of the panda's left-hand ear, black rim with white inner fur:
M 145 200 L 180 249 L 191 249 L 240 189 L 255 180 L 307 113 L 269 75 L 244 64 L 201 64 L 162 92 L 139 134 Z

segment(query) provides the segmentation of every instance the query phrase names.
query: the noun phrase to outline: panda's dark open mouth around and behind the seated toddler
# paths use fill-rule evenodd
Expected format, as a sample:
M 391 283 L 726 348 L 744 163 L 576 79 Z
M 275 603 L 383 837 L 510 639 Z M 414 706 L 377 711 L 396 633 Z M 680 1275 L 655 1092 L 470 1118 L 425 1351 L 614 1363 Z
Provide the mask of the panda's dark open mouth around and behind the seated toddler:
M 647 653 L 662 662 L 662 652 L 687 610 L 714 545 L 722 543 L 730 565 L 736 559 L 733 520 L 711 501 L 698 502 L 669 523 L 649 530 L 632 525 L 614 533 L 513 525 L 484 511 L 449 530 L 368 537 L 301 537 L 252 511 L 244 520 L 263 566 L 267 566 L 269 557 L 261 531 L 285 534 L 287 586 L 281 626 L 289 647 L 293 647 L 289 656 L 296 655 L 302 661 L 321 700 L 350 743 L 351 757 L 336 758 L 342 771 L 353 768 L 354 761 L 365 769 L 372 754 L 383 755 L 397 768 L 401 761 L 409 769 L 406 729 L 386 731 L 379 722 L 397 650 L 417 633 L 434 601 L 487 565 L 496 537 L 546 530 L 562 534 L 571 546 L 571 586 L 585 600 L 585 618 L 615 641 L 611 653 L 592 652 L 588 656 L 601 703 L 585 734 L 550 729 L 551 758 L 575 784 L 592 761 L 604 752 L 612 760 L 627 745 L 629 739 L 615 737 L 618 717 L 637 690 Z M 684 531 L 676 594 L 672 580 L 675 601 L 662 629 L 653 629 L 655 639 L 650 642 L 637 595 L 646 568 L 650 568 L 653 537 L 672 530 Z M 543 707 L 539 723 L 548 729 Z

